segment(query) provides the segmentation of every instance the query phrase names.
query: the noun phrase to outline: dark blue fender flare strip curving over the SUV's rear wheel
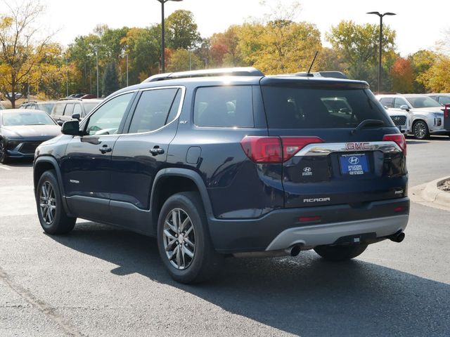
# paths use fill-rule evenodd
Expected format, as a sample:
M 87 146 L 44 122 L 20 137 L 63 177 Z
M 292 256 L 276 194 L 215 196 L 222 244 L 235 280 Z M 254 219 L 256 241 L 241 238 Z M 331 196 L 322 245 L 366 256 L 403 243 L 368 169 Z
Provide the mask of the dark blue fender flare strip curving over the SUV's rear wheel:
M 155 189 L 158 186 L 158 182 L 162 178 L 167 177 L 184 177 L 188 178 L 195 183 L 195 185 L 198 188 L 198 191 L 200 192 L 200 197 L 203 201 L 203 207 L 205 207 L 205 213 L 207 215 L 207 218 L 212 216 L 212 205 L 210 200 L 210 195 L 207 192 L 205 182 L 203 181 L 203 178 L 198 174 L 197 172 L 191 170 L 191 169 L 178 169 L 178 168 L 170 168 L 170 169 L 162 169 L 159 171 L 156 176 L 155 180 L 153 180 L 153 186 L 152 186 L 152 192 L 150 194 L 150 210 L 153 209 L 153 203 L 155 202 Z

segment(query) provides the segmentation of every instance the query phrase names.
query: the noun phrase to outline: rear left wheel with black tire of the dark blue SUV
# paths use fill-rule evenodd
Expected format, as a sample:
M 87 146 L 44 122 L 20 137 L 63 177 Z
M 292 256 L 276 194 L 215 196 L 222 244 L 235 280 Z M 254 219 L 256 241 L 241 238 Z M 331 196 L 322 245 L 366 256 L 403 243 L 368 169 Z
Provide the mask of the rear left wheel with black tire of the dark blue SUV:
M 176 222 L 186 223 L 183 228 L 174 223 L 174 214 L 179 214 L 181 219 Z M 181 231 L 176 228 L 181 228 Z M 160 211 L 157 233 L 162 262 L 175 281 L 198 283 L 216 274 L 221 257 L 212 246 L 205 210 L 198 193 L 182 192 L 169 197 Z M 193 254 L 192 258 L 188 252 Z

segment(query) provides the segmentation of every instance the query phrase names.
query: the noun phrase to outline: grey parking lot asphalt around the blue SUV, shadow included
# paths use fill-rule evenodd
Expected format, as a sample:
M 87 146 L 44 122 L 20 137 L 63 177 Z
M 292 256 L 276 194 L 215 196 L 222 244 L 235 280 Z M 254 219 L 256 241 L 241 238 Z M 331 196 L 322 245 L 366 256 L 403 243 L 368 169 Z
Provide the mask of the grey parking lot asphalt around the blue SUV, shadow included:
M 449 176 L 450 138 L 408 140 L 410 187 Z M 0 165 L 0 336 L 450 336 L 450 212 L 411 204 L 406 239 L 359 258 L 226 259 L 172 281 L 155 239 L 78 220 L 44 234 L 32 165 Z

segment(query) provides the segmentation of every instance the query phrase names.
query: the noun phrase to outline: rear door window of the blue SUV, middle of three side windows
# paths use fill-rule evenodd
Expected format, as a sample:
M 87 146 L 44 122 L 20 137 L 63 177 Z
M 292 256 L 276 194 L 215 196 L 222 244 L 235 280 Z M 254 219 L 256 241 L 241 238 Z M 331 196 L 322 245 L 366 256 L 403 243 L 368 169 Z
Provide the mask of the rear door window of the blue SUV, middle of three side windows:
M 148 132 L 164 126 L 178 90 L 173 88 L 143 91 L 128 132 Z

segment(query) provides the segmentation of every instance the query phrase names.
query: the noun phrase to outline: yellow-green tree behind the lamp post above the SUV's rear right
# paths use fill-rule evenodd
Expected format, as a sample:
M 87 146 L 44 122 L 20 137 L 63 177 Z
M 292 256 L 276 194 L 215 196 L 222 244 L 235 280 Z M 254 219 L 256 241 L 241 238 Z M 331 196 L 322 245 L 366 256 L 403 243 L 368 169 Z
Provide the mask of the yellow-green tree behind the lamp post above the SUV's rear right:
M 397 55 L 394 53 L 396 33 L 390 27 L 383 29 L 383 91 L 390 91 L 387 79 L 390 67 Z M 356 25 L 353 21 L 341 21 L 326 34 L 326 39 L 339 55 L 345 72 L 353 79 L 377 85 L 379 27 L 378 25 Z

